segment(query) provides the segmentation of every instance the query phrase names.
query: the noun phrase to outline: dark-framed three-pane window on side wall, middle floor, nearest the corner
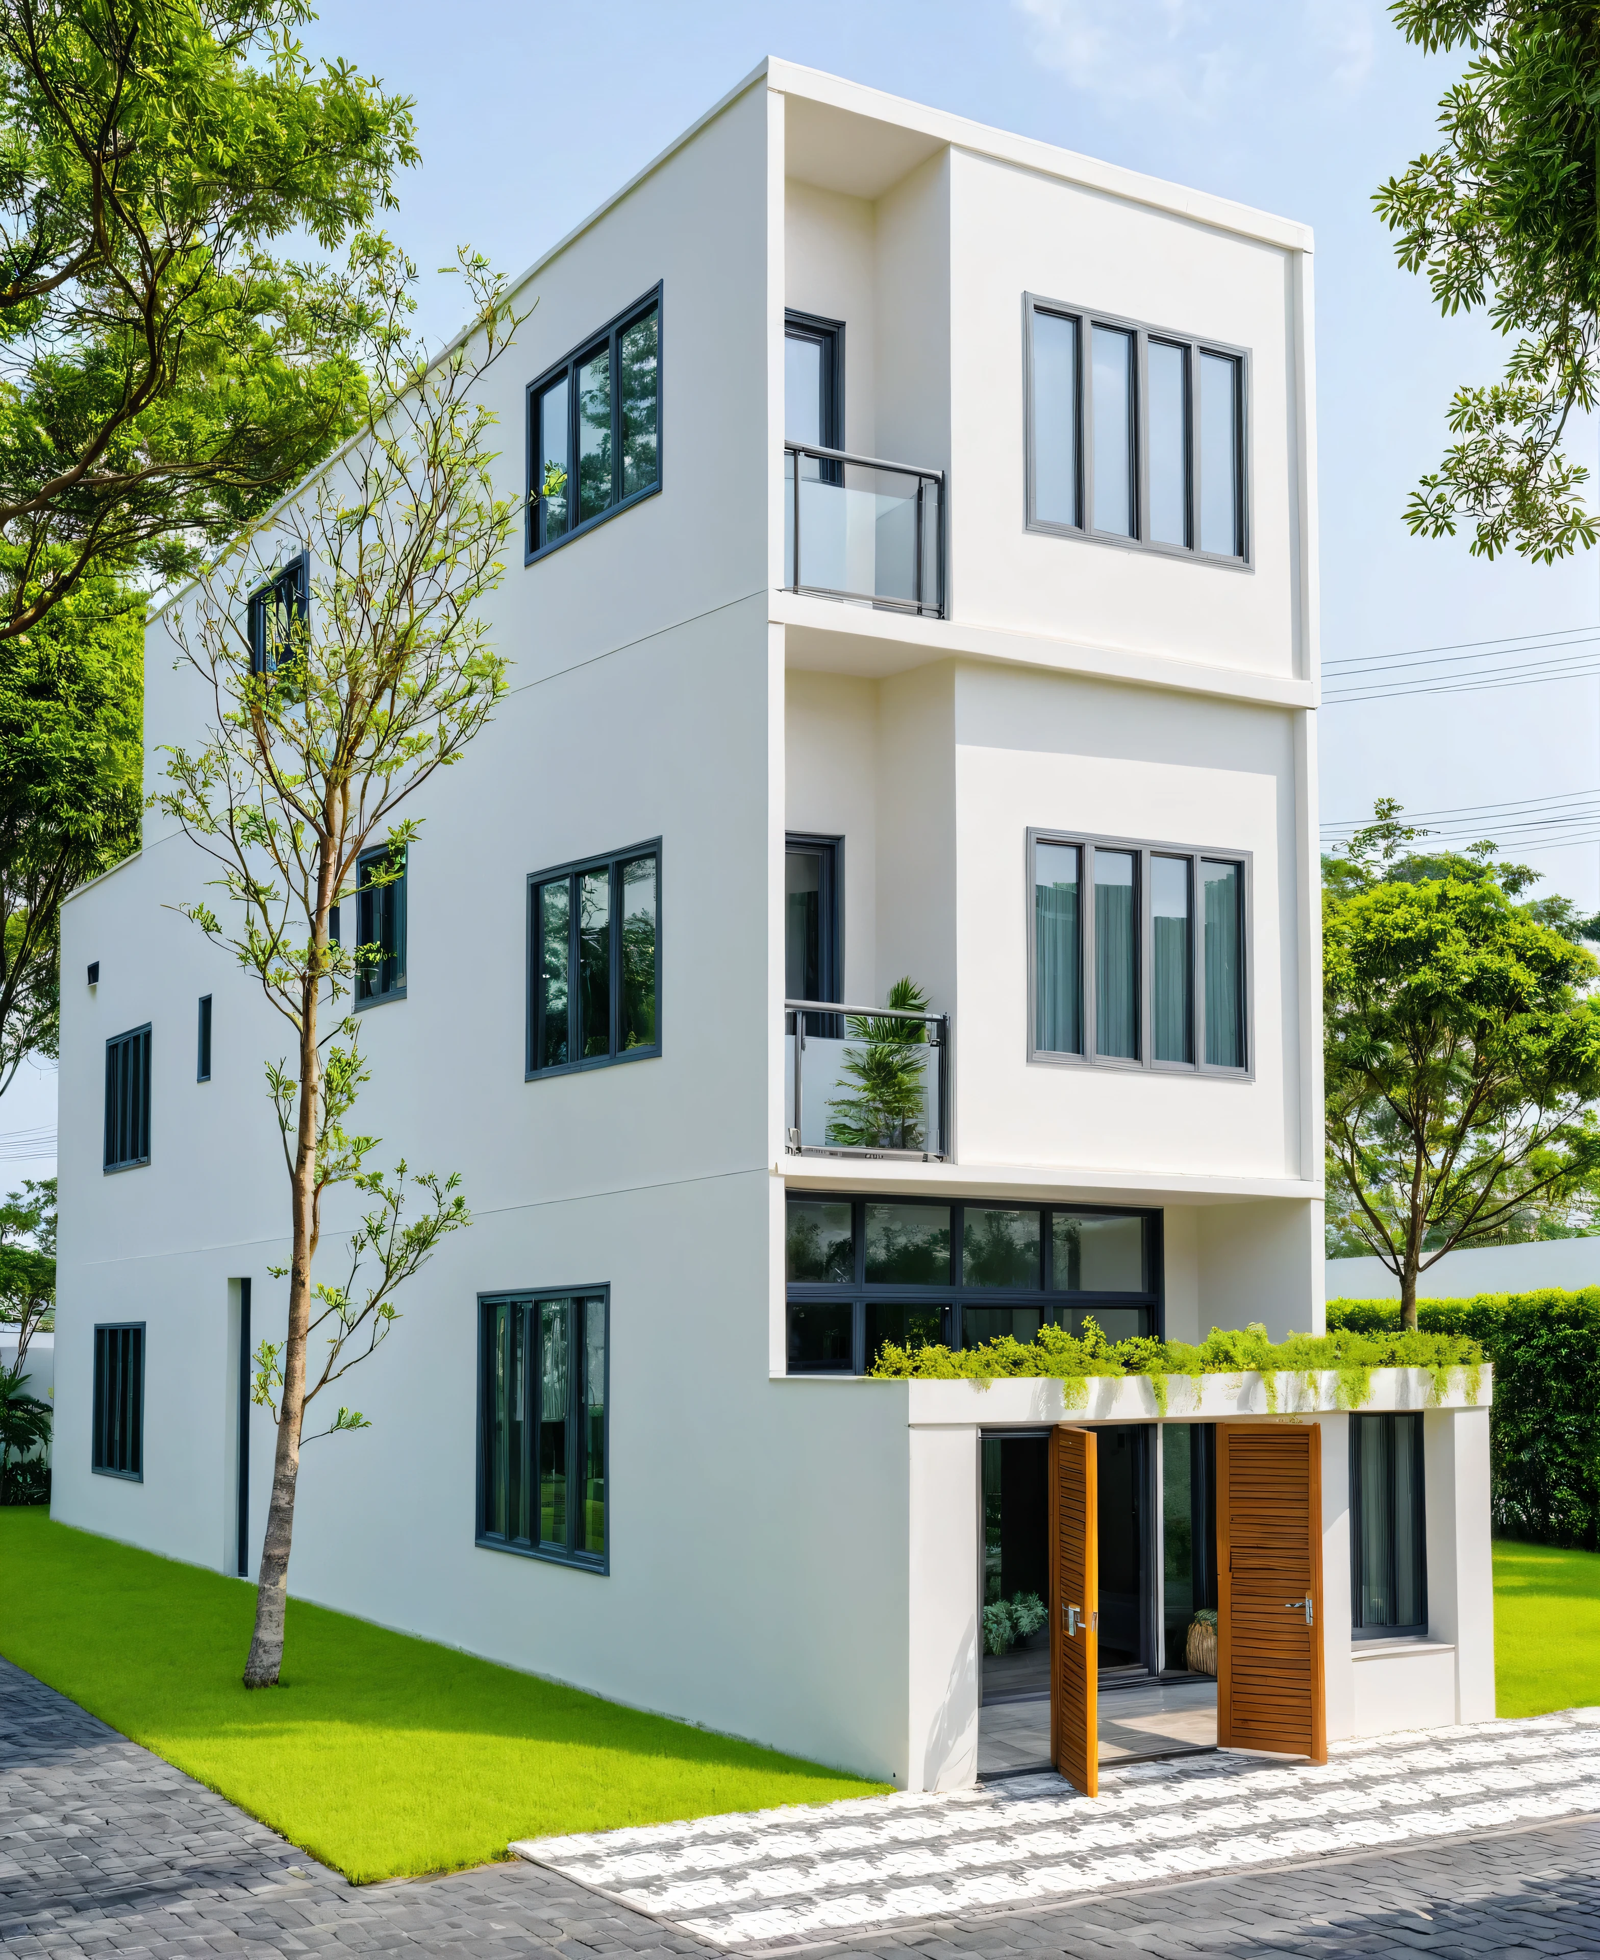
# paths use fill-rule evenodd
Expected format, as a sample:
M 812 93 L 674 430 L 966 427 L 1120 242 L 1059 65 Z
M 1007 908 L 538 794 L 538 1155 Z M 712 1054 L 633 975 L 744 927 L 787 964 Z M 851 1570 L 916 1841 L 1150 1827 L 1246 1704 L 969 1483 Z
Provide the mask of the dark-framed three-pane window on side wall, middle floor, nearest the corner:
M 529 1078 L 660 1054 L 660 839 L 529 878 Z

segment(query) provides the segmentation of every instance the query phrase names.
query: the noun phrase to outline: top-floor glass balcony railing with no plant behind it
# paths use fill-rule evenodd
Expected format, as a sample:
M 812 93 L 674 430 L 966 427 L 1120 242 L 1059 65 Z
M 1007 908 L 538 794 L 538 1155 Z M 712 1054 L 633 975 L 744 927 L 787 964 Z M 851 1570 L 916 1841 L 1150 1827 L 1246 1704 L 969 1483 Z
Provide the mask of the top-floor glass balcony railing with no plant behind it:
M 783 445 L 783 584 L 944 617 L 944 470 Z

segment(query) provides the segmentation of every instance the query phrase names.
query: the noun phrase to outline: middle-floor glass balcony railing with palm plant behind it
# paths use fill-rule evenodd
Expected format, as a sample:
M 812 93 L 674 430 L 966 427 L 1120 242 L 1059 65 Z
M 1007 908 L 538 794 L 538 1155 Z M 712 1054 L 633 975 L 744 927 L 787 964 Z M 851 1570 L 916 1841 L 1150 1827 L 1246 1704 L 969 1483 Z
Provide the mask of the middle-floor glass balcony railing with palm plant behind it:
M 950 1015 L 783 1002 L 793 1156 L 950 1156 Z

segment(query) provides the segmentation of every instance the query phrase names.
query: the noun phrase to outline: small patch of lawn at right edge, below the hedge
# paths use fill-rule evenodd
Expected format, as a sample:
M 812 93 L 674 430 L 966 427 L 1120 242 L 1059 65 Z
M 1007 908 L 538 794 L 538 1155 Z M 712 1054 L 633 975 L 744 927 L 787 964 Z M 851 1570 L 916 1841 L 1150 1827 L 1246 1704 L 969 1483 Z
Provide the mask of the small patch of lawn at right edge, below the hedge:
M 1500 1715 L 1600 1703 L 1600 1552 L 1494 1541 Z

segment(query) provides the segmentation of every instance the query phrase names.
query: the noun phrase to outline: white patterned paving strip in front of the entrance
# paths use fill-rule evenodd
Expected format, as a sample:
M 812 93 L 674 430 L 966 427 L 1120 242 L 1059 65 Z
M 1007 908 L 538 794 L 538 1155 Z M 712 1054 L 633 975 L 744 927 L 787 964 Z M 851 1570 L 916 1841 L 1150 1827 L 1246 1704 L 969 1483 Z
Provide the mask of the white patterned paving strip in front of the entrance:
M 1600 1811 L 1600 1709 L 1338 1742 L 1326 1766 L 1206 1754 L 918 1797 L 699 1817 L 511 1850 L 719 1946 L 1369 1850 Z

